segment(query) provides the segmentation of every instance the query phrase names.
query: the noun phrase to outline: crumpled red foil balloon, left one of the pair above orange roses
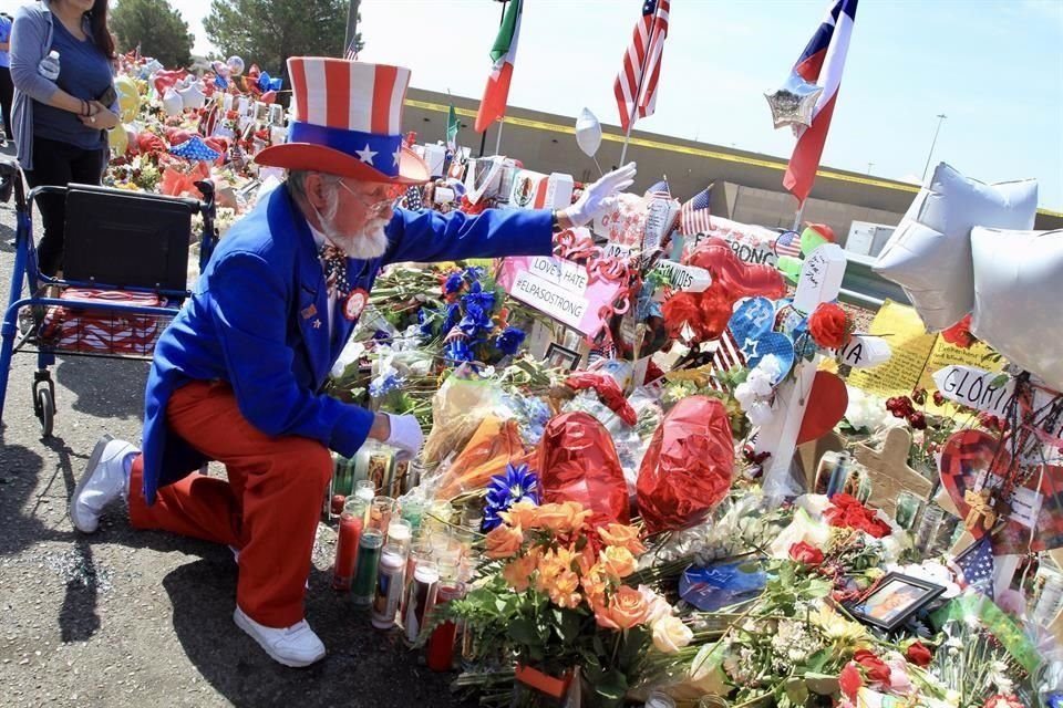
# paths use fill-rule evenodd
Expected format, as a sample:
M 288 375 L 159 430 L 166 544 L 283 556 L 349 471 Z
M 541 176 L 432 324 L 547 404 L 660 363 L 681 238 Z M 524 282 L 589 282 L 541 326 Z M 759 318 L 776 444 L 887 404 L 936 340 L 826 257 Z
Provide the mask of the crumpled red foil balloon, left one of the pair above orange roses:
M 628 488 L 612 437 L 589 414 L 565 413 L 547 424 L 537 467 L 545 501 L 578 501 L 594 511 L 595 525 L 628 523 Z

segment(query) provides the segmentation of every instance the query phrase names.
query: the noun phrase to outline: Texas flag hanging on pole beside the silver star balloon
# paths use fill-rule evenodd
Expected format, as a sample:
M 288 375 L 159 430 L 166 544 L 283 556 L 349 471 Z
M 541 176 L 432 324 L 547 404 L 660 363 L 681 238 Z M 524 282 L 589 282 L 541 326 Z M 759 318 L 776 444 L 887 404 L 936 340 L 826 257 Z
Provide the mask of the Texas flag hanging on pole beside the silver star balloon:
M 812 114 L 812 127 L 802 132 L 783 177 L 783 187 L 804 204 L 816 181 L 816 170 L 827 142 L 830 117 L 834 115 L 842 83 L 845 55 L 856 21 L 857 0 L 830 0 L 826 17 L 812 41 L 794 65 L 794 73 L 809 83 L 823 86 Z

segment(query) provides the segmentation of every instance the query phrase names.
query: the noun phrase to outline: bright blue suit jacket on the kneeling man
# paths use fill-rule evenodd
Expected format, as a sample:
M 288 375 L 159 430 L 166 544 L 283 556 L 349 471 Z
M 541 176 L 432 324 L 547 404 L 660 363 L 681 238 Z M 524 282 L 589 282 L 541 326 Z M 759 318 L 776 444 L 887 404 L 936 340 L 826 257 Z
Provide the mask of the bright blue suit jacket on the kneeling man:
M 369 291 L 381 267 L 401 261 L 548 254 L 550 214 L 396 210 L 380 259 L 348 260 L 353 288 Z M 373 414 L 320 394 L 354 322 L 328 292 L 313 237 L 287 189 L 275 189 L 219 243 L 192 298 L 155 347 L 144 403 L 144 497 L 198 469 L 206 458 L 169 429 L 166 404 L 190 381 L 225 381 L 240 413 L 269 436 L 298 435 L 351 456 Z M 312 316 L 303 316 L 314 312 Z

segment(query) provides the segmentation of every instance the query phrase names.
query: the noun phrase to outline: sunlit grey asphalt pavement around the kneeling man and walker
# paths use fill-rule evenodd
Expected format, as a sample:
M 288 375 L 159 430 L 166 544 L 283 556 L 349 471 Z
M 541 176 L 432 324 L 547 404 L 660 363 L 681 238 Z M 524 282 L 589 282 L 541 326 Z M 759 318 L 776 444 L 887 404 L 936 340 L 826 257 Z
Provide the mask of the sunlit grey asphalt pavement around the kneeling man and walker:
M 4 308 L 13 229 L 13 205 L 0 205 Z M 275 664 L 233 624 L 227 549 L 133 531 L 121 507 L 94 535 L 75 532 L 66 503 L 96 439 L 140 439 L 147 365 L 60 358 L 48 439 L 31 405 L 35 366 L 34 355 L 16 355 L 0 427 L 0 706 L 462 705 L 450 675 L 429 671 L 332 593 L 329 528 L 319 528 L 307 595 L 329 656 L 307 669 Z

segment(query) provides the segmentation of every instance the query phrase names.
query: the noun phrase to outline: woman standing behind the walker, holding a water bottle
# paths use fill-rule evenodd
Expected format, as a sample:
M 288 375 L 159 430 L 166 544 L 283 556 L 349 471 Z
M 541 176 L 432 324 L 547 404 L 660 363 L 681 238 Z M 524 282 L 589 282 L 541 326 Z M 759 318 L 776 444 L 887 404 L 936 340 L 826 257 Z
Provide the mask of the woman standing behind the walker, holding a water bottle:
M 24 4 L 11 40 L 13 133 L 25 180 L 31 187 L 99 185 L 107 164 L 106 131 L 118 124 L 107 0 Z M 64 196 L 42 195 L 38 207 L 44 222 L 38 266 L 55 275 L 62 269 Z

